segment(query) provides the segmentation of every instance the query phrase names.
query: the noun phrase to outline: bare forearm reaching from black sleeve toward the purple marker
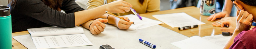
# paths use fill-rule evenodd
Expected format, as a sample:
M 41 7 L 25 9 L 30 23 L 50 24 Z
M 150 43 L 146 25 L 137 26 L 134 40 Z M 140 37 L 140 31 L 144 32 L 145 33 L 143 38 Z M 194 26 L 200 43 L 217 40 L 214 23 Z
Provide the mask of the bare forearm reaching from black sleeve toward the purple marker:
M 75 26 L 104 15 L 106 13 L 105 11 L 107 11 L 104 7 L 99 6 L 97 8 L 75 12 Z

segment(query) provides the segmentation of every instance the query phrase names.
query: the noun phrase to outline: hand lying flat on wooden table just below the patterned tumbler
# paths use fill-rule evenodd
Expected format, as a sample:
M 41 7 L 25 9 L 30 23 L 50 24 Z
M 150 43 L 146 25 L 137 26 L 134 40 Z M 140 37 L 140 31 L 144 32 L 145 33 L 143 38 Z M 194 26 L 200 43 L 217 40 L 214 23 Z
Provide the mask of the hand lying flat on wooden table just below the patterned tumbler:
M 214 20 L 216 20 L 218 18 L 223 18 L 223 17 L 229 17 L 229 14 L 227 12 L 225 12 L 225 11 L 219 12 L 219 13 L 215 13 L 215 14 L 209 16 L 207 18 L 207 20 L 208 21 L 214 21 Z

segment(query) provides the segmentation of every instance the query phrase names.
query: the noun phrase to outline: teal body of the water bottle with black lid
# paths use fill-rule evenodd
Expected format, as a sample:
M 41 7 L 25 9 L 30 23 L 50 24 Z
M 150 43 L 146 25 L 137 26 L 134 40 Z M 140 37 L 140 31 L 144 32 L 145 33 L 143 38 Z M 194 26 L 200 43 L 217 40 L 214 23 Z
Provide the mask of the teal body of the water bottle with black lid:
M 12 49 L 11 15 L 0 16 L 0 49 Z

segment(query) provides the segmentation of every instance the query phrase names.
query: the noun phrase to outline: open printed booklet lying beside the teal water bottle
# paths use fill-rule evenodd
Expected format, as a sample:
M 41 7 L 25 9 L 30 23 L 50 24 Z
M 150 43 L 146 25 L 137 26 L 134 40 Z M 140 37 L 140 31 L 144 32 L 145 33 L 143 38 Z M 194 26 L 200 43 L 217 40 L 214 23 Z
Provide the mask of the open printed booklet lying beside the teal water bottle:
M 28 29 L 37 49 L 92 45 L 82 27 L 41 27 Z

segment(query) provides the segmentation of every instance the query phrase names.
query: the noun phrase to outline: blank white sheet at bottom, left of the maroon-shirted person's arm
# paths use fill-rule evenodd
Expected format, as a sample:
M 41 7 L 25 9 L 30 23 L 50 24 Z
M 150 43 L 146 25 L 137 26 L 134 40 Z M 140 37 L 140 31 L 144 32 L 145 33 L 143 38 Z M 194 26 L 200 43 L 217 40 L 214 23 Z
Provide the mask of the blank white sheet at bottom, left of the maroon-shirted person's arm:
M 223 49 L 221 45 L 205 40 L 199 36 L 193 36 L 188 39 L 171 43 L 181 49 Z

